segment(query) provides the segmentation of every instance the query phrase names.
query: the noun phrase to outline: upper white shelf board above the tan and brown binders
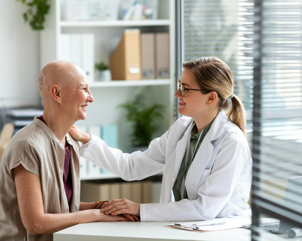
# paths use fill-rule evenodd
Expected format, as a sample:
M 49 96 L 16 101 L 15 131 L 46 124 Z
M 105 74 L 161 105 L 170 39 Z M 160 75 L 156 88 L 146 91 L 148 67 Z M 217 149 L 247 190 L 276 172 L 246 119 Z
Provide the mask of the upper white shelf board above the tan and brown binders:
M 169 19 L 60 21 L 61 27 L 169 26 Z

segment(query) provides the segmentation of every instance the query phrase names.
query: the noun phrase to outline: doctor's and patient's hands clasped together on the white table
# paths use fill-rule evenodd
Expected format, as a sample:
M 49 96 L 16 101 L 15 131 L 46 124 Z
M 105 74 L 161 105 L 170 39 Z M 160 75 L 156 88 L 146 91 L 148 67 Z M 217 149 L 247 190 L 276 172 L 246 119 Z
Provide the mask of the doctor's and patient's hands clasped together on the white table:
M 101 212 L 111 215 L 123 215 L 130 221 L 140 221 L 140 204 L 128 199 L 113 199 L 102 205 Z

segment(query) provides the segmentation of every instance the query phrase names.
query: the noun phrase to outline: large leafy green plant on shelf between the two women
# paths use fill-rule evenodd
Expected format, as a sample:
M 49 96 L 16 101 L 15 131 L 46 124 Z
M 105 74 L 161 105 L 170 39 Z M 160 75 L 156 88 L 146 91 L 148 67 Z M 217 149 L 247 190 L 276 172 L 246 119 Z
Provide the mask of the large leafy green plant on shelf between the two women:
M 158 128 L 155 121 L 163 117 L 164 105 L 154 103 L 148 106 L 146 104 L 148 89 L 142 89 L 132 101 L 117 106 L 126 110 L 125 117 L 132 124 L 133 150 L 144 151 L 148 148 L 153 133 Z

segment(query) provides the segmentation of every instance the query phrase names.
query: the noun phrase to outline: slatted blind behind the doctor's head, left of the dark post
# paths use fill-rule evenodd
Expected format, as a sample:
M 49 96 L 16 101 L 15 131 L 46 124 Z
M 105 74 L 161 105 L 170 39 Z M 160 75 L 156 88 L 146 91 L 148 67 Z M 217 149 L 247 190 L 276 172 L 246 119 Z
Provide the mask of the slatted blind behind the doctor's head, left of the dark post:
M 234 93 L 243 100 L 249 120 L 254 63 L 252 16 L 253 4 L 249 1 L 183 1 L 182 60 L 216 56 L 226 62 L 233 73 Z

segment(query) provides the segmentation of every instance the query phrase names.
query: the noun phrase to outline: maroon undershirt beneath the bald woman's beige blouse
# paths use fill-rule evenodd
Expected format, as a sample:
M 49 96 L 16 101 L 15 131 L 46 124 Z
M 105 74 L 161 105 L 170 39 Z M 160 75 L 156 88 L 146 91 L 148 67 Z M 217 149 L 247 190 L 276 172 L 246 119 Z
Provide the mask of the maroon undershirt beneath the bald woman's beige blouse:
M 43 119 L 43 115 L 38 116 L 37 118 L 46 124 L 46 122 Z M 70 168 L 70 146 L 69 146 L 68 142 L 66 142 L 66 146 L 65 146 L 63 183 L 64 183 L 64 189 L 65 189 L 68 206 L 69 206 L 69 210 L 70 210 L 70 204 L 71 204 L 71 198 L 72 198 L 72 178 L 71 178 L 71 168 Z

